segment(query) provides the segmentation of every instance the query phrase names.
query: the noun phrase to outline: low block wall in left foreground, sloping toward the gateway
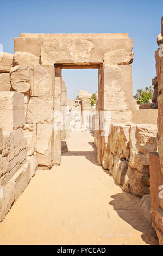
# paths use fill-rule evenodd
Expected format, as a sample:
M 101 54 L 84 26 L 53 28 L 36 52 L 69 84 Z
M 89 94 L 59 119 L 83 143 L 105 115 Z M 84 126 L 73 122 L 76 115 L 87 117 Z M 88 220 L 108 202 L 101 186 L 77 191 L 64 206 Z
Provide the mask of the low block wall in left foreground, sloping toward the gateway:
M 23 95 L 17 92 L 0 92 L 0 101 L 1 222 L 35 174 L 37 163 L 35 159 L 27 157 L 28 145 L 23 132 Z

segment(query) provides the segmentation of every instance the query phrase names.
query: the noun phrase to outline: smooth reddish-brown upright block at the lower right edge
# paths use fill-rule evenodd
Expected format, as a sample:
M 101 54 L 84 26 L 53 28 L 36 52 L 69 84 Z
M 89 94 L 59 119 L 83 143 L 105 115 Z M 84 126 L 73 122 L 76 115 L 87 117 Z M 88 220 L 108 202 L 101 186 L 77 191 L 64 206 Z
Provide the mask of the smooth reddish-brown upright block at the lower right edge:
M 159 158 L 158 153 L 149 154 L 152 225 L 158 235 L 159 244 L 163 245 L 163 175 Z

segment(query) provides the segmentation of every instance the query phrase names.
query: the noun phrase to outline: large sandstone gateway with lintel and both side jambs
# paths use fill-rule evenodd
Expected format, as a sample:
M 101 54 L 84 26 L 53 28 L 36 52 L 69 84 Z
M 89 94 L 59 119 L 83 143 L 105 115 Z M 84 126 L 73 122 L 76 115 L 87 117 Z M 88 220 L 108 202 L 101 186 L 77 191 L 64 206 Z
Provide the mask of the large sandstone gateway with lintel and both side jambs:
M 132 119 L 132 49 L 133 39 L 128 37 L 128 33 L 21 33 L 20 37 L 15 38 L 15 63 L 30 67 L 32 77 L 39 79 L 39 83 L 32 80 L 32 94 L 27 109 L 27 124 L 35 124 L 38 128 L 36 141 L 41 142 L 40 148 L 36 147 L 39 166 L 51 168 L 53 164 L 61 163 L 61 133 L 54 130 L 53 125 L 60 124 L 60 120 L 55 118 L 55 113 L 61 111 L 61 70 L 68 68 L 99 70 L 97 110 L 103 112 L 103 121 L 99 120 L 99 126 L 103 129 L 96 132 L 95 144 L 98 148 L 98 163 L 102 163 L 108 138 L 103 132 L 106 124 L 105 114 L 110 113 L 110 123 L 124 123 Z M 30 56 L 25 62 L 18 58 L 22 53 Z

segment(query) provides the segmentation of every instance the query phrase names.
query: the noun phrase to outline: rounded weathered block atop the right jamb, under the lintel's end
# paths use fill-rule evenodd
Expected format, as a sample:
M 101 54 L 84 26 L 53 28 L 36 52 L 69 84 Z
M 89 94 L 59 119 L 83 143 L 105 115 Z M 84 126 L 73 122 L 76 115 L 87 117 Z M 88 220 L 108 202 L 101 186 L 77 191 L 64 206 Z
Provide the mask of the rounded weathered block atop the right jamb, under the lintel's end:
M 105 64 L 129 65 L 133 59 L 134 53 L 127 52 L 124 48 L 104 53 Z

